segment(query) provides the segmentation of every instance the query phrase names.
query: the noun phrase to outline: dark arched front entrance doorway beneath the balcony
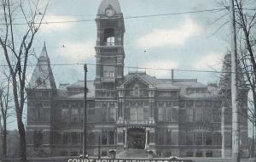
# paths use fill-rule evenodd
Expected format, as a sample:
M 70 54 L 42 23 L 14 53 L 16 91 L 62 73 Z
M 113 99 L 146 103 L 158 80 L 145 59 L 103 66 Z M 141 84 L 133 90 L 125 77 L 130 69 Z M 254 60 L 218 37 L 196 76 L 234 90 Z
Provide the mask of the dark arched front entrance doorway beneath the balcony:
M 143 128 L 128 129 L 128 148 L 144 149 L 146 132 Z

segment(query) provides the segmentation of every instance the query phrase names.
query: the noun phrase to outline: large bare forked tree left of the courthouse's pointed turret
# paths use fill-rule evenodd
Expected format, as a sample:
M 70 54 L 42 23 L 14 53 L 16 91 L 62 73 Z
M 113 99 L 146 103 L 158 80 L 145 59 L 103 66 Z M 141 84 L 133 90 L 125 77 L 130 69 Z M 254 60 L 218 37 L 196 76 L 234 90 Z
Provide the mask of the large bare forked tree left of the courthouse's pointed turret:
M 0 49 L 8 64 L 15 104 L 15 113 L 20 135 L 20 161 L 26 162 L 26 131 L 22 120 L 26 102 L 26 72 L 32 43 L 44 19 L 47 4 L 40 0 L 1 0 Z M 21 15 L 24 23 L 17 23 Z M 20 19 L 19 19 L 20 20 Z M 17 27 L 17 25 L 19 25 Z M 23 34 L 22 34 L 23 33 Z

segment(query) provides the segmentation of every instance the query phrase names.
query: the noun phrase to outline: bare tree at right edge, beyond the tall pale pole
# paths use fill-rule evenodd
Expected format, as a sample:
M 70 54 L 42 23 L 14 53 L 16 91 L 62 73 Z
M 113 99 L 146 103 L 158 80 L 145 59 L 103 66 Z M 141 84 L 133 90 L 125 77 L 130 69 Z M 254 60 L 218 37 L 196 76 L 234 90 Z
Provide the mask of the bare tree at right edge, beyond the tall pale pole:
M 253 2 L 245 0 L 235 0 L 236 4 L 236 25 L 238 28 L 238 54 L 239 62 L 242 68 L 242 75 L 247 82 L 251 92 L 251 97 L 248 98 L 248 120 L 253 123 L 253 129 L 256 125 L 256 8 L 247 8 L 247 3 Z M 255 6 L 254 6 L 255 7 Z M 250 95 L 249 95 L 250 96 Z M 253 147 L 251 156 L 254 155 L 254 132 L 253 132 Z

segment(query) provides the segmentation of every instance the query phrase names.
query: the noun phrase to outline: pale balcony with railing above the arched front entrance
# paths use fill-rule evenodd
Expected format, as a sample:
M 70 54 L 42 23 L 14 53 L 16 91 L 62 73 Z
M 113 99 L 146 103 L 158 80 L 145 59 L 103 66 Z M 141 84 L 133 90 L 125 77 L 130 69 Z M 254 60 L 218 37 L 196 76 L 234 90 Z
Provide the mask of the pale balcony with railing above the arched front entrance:
M 155 126 L 154 118 L 148 118 L 148 120 L 124 120 L 119 117 L 117 121 L 119 126 Z

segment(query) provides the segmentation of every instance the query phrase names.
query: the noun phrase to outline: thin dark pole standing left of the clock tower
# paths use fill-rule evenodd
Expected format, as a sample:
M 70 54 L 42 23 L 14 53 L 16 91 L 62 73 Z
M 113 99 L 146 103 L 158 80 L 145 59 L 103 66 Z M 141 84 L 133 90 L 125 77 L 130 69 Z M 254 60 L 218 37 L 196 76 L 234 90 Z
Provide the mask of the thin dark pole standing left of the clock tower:
M 83 157 L 87 157 L 87 64 L 84 64 L 84 122 Z

